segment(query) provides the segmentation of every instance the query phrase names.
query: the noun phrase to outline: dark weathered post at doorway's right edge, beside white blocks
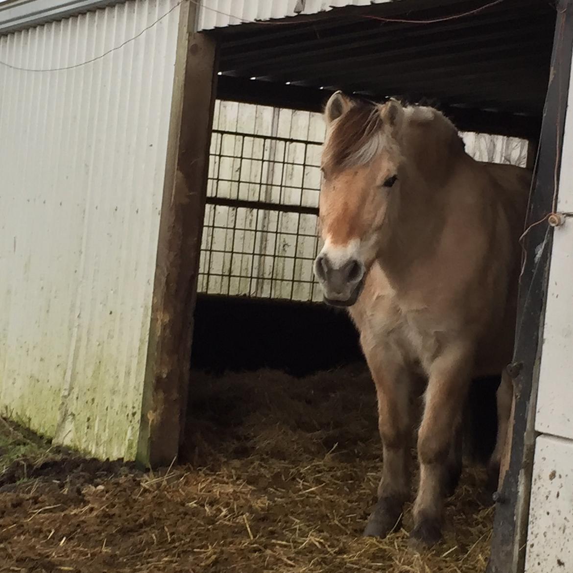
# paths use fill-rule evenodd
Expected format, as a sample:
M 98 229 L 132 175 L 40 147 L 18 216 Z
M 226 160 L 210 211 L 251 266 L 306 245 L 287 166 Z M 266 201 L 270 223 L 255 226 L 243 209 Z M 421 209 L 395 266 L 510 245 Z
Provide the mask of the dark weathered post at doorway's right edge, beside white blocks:
M 526 222 L 528 231 L 524 239 L 525 258 L 512 367 L 515 393 L 512 447 L 508 470 L 496 496 L 488 573 L 522 573 L 524 570 L 535 448 L 537 385 L 553 236 L 545 219 L 552 212 L 558 193 L 556 174 L 562 161 L 572 52 L 573 0 L 560 0 L 539 156 Z M 530 156 L 530 162 L 531 159 Z

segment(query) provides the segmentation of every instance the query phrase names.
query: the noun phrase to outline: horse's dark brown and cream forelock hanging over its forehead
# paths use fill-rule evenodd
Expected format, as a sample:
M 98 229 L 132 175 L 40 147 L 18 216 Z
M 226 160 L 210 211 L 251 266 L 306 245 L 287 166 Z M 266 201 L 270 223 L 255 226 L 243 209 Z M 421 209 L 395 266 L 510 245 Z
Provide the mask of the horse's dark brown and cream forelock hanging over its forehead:
M 379 153 L 383 120 L 375 105 L 358 104 L 332 124 L 323 150 L 327 171 L 364 165 Z

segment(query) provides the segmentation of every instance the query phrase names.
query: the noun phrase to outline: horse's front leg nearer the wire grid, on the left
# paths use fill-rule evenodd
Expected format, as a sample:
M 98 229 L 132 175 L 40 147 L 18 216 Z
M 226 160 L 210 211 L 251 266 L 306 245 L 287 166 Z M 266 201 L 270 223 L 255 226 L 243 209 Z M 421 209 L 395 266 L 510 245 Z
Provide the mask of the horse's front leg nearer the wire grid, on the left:
M 364 354 L 376 386 L 383 447 L 378 502 L 364 535 L 385 537 L 399 524 L 403 505 L 410 497 L 411 382 L 399 356 L 379 348 L 365 348 Z

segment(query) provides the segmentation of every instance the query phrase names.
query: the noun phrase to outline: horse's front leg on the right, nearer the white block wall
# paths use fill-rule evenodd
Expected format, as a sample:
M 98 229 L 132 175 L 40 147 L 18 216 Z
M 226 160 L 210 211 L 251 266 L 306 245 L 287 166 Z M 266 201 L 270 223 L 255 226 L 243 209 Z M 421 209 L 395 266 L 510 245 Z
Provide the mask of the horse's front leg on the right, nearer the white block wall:
M 441 539 L 444 498 L 452 473 L 452 451 L 460 433 L 461 416 L 473 365 L 469 346 L 445 348 L 429 367 L 422 423 L 418 431 L 420 482 L 414 504 L 414 545 Z M 454 456 L 456 458 L 457 456 Z

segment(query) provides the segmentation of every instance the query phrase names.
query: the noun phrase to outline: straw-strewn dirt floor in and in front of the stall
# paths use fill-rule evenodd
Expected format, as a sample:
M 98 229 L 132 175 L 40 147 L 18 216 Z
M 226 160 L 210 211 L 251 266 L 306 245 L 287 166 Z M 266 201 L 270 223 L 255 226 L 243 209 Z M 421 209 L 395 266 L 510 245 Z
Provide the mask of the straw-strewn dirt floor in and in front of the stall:
M 386 540 L 360 536 L 381 466 L 362 370 L 195 382 L 189 463 L 160 472 L 50 450 L 4 422 L 0 571 L 485 570 L 493 508 L 478 501 L 478 468 L 448 501 L 445 540 L 433 551 L 407 549 L 409 511 Z

